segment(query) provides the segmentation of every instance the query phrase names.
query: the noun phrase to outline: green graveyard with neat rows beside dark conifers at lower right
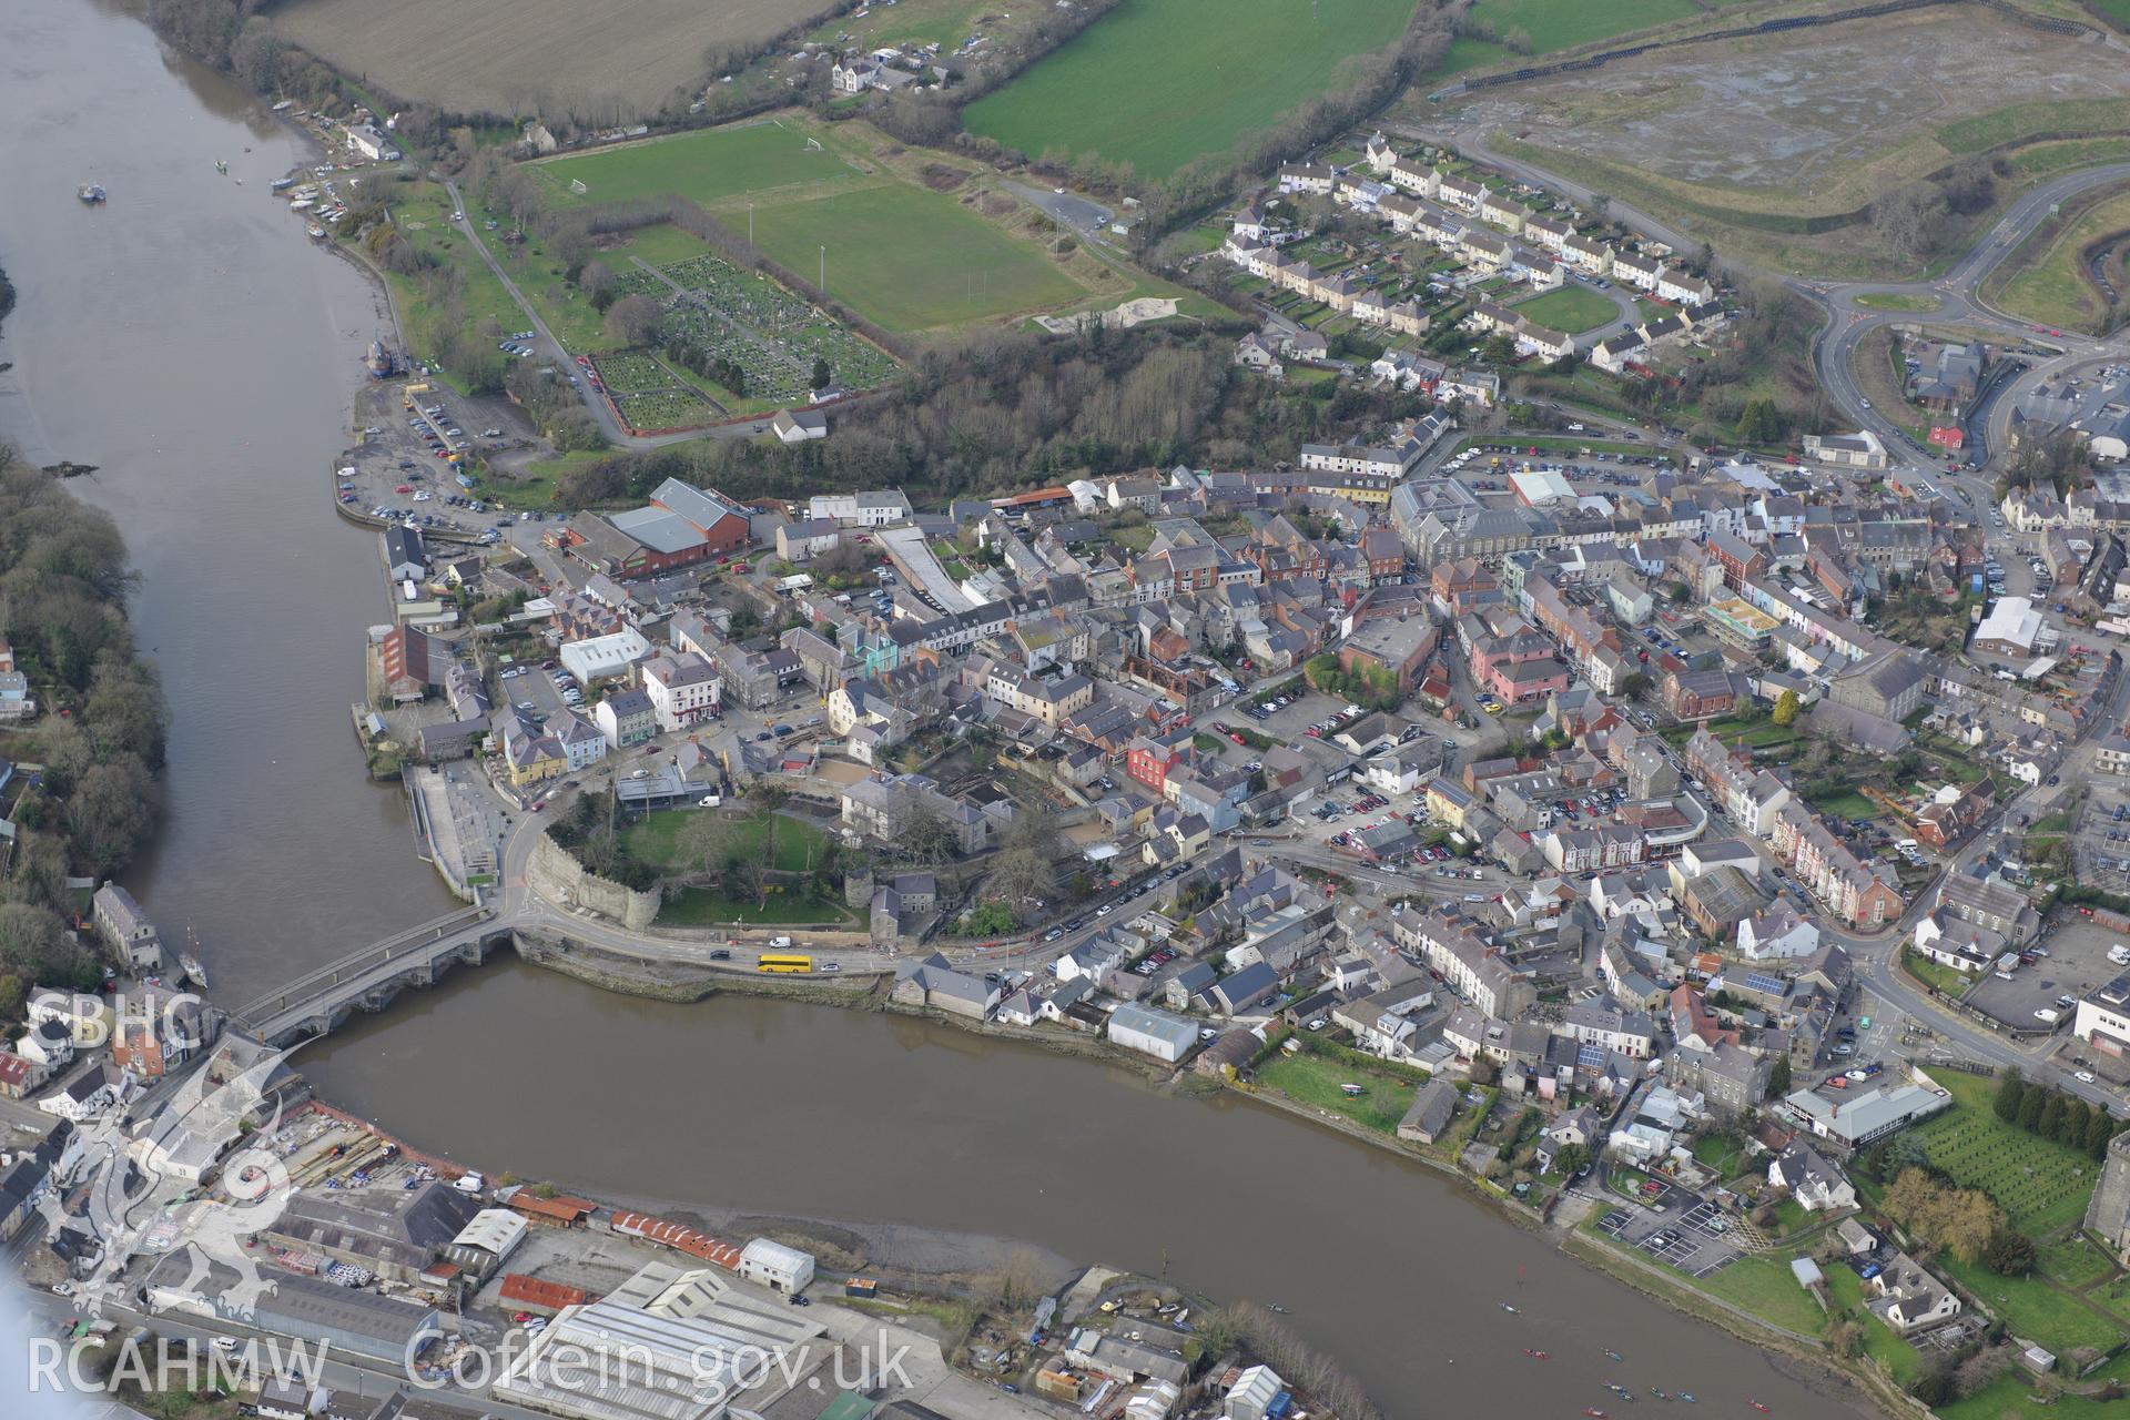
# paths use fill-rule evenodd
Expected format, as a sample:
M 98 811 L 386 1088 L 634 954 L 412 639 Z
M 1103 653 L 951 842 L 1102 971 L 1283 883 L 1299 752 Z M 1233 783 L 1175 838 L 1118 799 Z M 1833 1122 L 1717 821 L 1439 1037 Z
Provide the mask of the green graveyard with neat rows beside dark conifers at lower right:
M 1964 1071 L 1932 1071 L 1953 1094 L 1953 1109 L 1923 1120 L 1915 1133 L 1930 1162 L 1962 1188 L 1981 1188 L 2026 1233 L 2077 1224 L 2100 1177 L 2081 1150 L 2030 1135 L 1996 1118 L 1996 1079 Z

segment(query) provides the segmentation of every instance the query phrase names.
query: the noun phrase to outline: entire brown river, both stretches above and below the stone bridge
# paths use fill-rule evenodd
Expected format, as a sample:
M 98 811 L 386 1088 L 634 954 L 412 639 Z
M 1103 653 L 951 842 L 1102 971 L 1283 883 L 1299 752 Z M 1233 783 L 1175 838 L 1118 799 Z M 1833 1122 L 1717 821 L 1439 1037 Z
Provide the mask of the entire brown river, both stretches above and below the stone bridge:
M 377 298 L 266 183 L 298 143 L 124 9 L 0 11 L 0 436 L 98 464 L 175 724 L 173 809 L 126 881 L 241 1001 L 443 911 L 347 707 L 383 609 L 322 490 Z M 249 153 L 245 149 L 251 149 Z M 215 175 L 215 160 L 230 177 Z M 243 185 L 236 185 L 243 177 Z M 104 209 L 75 187 L 111 189 Z M 1872 1414 L 1849 1388 L 1593 1275 L 1453 1182 L 1235 1096 L 905 1018 L 609 996 L 505 960 L 313 1045 L 411 1143 L 635 1196 L 1025 1237 L 1278 1301 L 1393 1416 L 1572 1416 L 1602 1380 L 1723 1414 Z M 1521 1316 L 1502 1309 L 1504 1301 Z M 1523 1348 L 1551 1352 L 1531 1360 Z M 1604 1348 L 1627 1356 L 1608 1367 Z

